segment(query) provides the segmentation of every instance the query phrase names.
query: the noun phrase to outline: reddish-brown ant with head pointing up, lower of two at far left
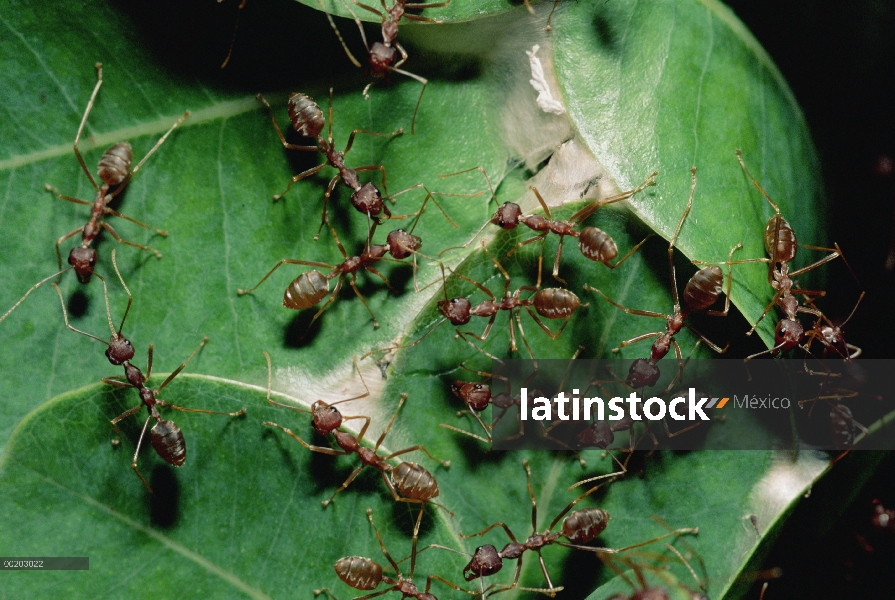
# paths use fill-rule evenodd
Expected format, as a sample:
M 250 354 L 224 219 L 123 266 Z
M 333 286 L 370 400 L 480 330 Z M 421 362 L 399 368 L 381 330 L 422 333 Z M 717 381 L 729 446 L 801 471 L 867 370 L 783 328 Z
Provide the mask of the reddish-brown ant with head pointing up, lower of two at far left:
M 144 376 L 142 371 L 140 371 L 140 369 L 136 365 L 130 362 L 135 354 L 133 345 L 131 344 L 130 340 L 121 335 L 121 330 L 124 328 L 124 322 L 127 319 L 128 313 L 130 312 L 133 297 L 131 296 L 131 292 L 130 289 L 128 289 L 127 284 L 124 283 L 124 279 L 121 278 L 121 273 L 118 271 L 118 263 L 115 260 L 115 250 L 112 250 L 112 265 L 115 267 L 115 273 L 116 275 L 118 275 L 118 279 L 119 281 L 121 281 L 122 287 L 124 287 L 125 292 L 127 292 L 127 309 L 124 311 L 124 317 L 122 317 L 121 319 L 121 325 L 118 327 L 118 331 L 115 331 L 115 327 L 112 325 L 112 314 L 109 311 L 109 295 L 106 289 L 106 282 L 105 280 L 103 280 L 103 295 L 106 300 L 106 316 L 109 321 L 109 329 L 112 330 L 112 337 L 109 338 L 108 342 L 72 327 L 68 322 L 68 312 L 65 310 L 65 301 L 62 298 L 62 291 L 59 289 L 59 286 L 55 282 L 53 283 L 53 287 L 56 289 L 56 293 L 59 294 L 59 302 L 62 304 L 62 314 L 65 318 L 65 326 L 75 333 L 80 333 L 81 335 L 85 335 L 89 338 L 106 344 L 106 346 L 108 346 L 108 348 L 106 349 L 106 358 L 109 359 L 109 362 L 113 365 L 124 367 L 124 378 L 127 380 L 126 382 L 120 381 L 120 376 L 116 376 L 104 377 L 102 380 L 103 383 L 114 387 L 136 388 L 140 393 L 140 404 L 112 419 L 111 425 L 112 428 L 119 435 L 123 435 L 118 427 L 116 427 L 116 425 L 120 421 L 123 421 L 131 415 L 139 412 L 140 409 L 144 406 L 146 407 L 146 410 L 149 414 L 146 417 L 146 421 L 143 423 L 143 429 L 140 431 L 140 438 L 137 441 L 137 447 L 134 450 L 134 457 L 131 460 L 131 468 L 134 470 L 134 473 L 137 474 L 137 477 L 140 478 L 140 481 L 143 482 L 143 485 L 146 486 L 146 489 L 149 490 L 149 493 L 152 493 L 152 487 L 150 487 L 149 482 L 146 481 L 146 478 L 143 477 L 143 474 L 140 473 L 140 470 L 137 468 L 137 459 L 140 456 L 140 448 L 143 446 L 143 438 L 146 436 L 146 429 L 148 428 L 149 422 L 152 419 L 155 419 L 155 425 L 153 425 L 152 429 L 149 430 L 149 441 L 152 444 L 152 447 L 155 449 L 156 453 L 166 463 L 175 467 L 183 466 L 184 462 L 186 462 L 186 441 L 184 440 L 183 432 L 174 421 L 163 419 L 161 417 L 161 414 L 158 411 L 159 406 L 173 408 L 174 410 L 179 410 L 181 412 L 204 413 L 208 415 L 227 415 L 230 417 L 242 416 L 245 414 L 246 410 L 245 408 L 242 408 L 236 412 L 219 412 L 198 408 L 186 408 L 183 406 L 171 404 L 158 397 L 159 392 L 161 392 L 165 388 L 165 386 L 171 383 L 171 381 L 175 377 L 177 377 L 177 375 L 187 366 L 187 364 L 189 364 L 189 362 L 193 360 L 193 357 L 196 356 L 196 353 L 198 353 L 199 350 L 201 350 L 202 347 L 205 346 L 206 342 L 208 342 L 207 337 L 202 339 L 199 347 L 193 350 L 193 353 L 190 354 L 189 358 L 187 358 L 183 362 L 183 364 L 177 367 L 174 372 L 168 375 L 168 377 L 165 379 L 165 381 L 162 382 L 160 386 L 158 386 L 154 390 L 146 387 L 146 382 L 149 381 L 149 377 L 152 375 L 153 345 L 149 345 L 149 359 L 148 365 L 146 367 L 146 375 Z M 113 443 L 113 446 L 114 445 L 115 444 Z

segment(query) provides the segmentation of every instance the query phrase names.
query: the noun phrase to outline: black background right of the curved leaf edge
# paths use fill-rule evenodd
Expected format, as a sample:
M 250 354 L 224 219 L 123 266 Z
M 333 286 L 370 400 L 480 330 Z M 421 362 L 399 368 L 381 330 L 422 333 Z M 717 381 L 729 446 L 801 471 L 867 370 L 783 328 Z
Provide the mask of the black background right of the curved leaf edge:
M 892 358 L 895 3 L 735 0 L 728 5 L 774 59 L 805 112 L 827 189 L 828 239 L 839 243 L 860 281 L 858 287 L 847 270 L 831 270 L 822 308 L 834 321 L 844 320 L 860 289 L 866 290 L 846 327 L 847 339 L 865 358 Z M 837 468 L 859 468 L 870 458 L 861 454 Z M 886 507 L 895 506 L 893 473 L 895 460 L 887 455 L 870 481 L 854 490 L 848 506 L 825 505 L 822 490 L 814 490 L 760 567 L 782 570 L 781 578 L 769 582 L 765 600 L 892 597 L 895 534 L 874 529 L 871 502 L 879 498 Z M 757 583 L 747 598 L 757 599 L 760 587 Z

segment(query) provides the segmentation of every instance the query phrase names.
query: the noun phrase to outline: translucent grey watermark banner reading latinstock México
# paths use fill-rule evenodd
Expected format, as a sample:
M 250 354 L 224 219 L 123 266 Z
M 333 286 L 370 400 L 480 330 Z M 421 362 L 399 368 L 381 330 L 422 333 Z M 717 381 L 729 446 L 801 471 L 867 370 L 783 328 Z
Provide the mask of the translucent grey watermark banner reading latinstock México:
M 493 448 L 895 449 L 895 361 L 828 362 L 666 358 L 640 389 L 629 360 L 497 362 Z

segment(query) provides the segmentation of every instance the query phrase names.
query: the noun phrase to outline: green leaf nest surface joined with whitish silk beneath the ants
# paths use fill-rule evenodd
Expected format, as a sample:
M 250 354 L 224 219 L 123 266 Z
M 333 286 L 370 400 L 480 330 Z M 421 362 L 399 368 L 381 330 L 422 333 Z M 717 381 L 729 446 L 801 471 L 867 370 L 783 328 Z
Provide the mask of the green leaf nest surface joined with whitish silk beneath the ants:
M 272 357 L 275 390 L 305 406 L 317 398 L 343 398 L 349 388 L 357 388 L 353 357 L 419 339 L 438 321 L 434 301 L 443 294 L 468 295 L 474 302 L 487 296 L 459 277 L 449 279 L 445 292 L 435 283 L 416 294 L 410 267 L 386 264 L 381 270 L 397 294 L 370 273 L 358 277 L 358 289 L 382 325 L 378 330 L 347 282 L 313 326 L 314 310 L 295 313 L 283 308 L 283 290 L 308 266 L 286 265 L 253 294 L 237 296 L 237 289 L 255 285 L 282 258 L 333 265 L 343 260 L 325 230 L 313 241 L 332 169 L 296 183 L 280 202 L 271 201 L 292 176 L 319 164 L 319 159 L 283 150 L 269 116 L 254 99 L 258 91 L 264 92 L 285 128 L 289 89 L 284 81 L 299 86 L 324 109 L 334 81 L 333 137 L 338 148 L 355 128 L 385 133 L 403 127 L 405 133 L 393 138 L 359 134 L 346 158 L 349 166 L 384 165 L 393 193 L 417 184 L 452 194 L 480 192 L 487 186 L 476 170 L 450 178 L 438 175 L 482 166 L 499 202 L 518 201 L 524 210 L 536 210 L 528 186 L 537 185 L 553 217 L 569 218 L 581 208 L 582 197 L 629 189 L 658 170 L 656 186 L 630 203 L 597 211 L 586 222 L 610 234 L 621 254 L 651 232 L 671 237 L 689 194 L 689 167 L 695 165 L 699 181 L 693 210 L 677 244 L 679 281 L 695 270 L 686 259 L 724 260 L 738 241 L 745 245 L 738 257 L 763 256 L 761 232 L 771 209 L 743 175 L 735 148 L 743 150 L 753 174 L 800 235 L 818 240 L 822 224 L 811 217 L 811 207 L 821 201 L 817 159 L 804 120 L 767 56 L 721 6 L 562 3 L 549 36 L 543 30 L 549 2 L 539 5 L 543 12 L 538 18 L 506 2 L 486 6 L 454 0 L 448 7 L 427 11 L 445 21 L 472 20 L 478 15 L 471 7 L 487 8 L 496 16 L 472 24 L 406 30 L 402 23 L 402 43 L 412 57 L 407 67 L 429 80 L 417 133 L 411 135 L 407 130 L 420 84 L 396 75 L 390 84 L 374 86 L 370 100 L 365 100 L 360 90 L 366 80 L 353 70 L 343 75 L 351 67 L 325 18 L 315 10 L 316 2 L 308 4 L 311 8 L 289 4 L 258 11 L 261 26 L 250 24 L 238 33 L 231 64 L 238 75 L 217 73 L 232 23 L 218 32 L 223 43 L 217 55 L 202 44 L 207 35 L 198 35 L 195 45 L 186 43 L 191 39 L 187 35 L 174 35 L 176 43 L 168 47 L 160 44 L 157 40 L 167 39 L 165 27 L 177 19 L 101 0 L 44 4 L 40 11 L 13 4 L 0 17 L 5 33 L 0 38 L 0 78 L 5 84 L 0 86 L 5 114 L 0 119 L 5 142 L 0 145 L 0 189 L 6 190 L 0 226 L 7 232 L 0 307 L 12 306 L 30 285 L 57 270 L 55 240 L 82 226 L 88 216 L 87 207 L 55 199 L 44 185 L 85 200 L 94 196 L 71 144 L 96 82 L 93 65 L 102 62 L 104 84 L 80 146 L 90 168 L 106 147 L 123 139 L 133 144 L 135 157 L 142 157 L 183 111 L 192 111 L 115 204 L 134 219 L 168 230 L 169 236 L 109 218 L 124 239 L 155 247 L 163 258 L 119 246 L 105 234 L 95 244 L 100 254 L 97 272 L 109 282 L 113 319 L 117 325 L 126 301 L 111 269 L 111 252 L 117 248 L 134 297 L 123 331 L 137 348 L 137 364 L 142 367 L 152 343 L 155 370 L 171 371 L 203 336 L 210 338 L 188 366 L 189 373 L 201 375 L 180 375 L 163 397 L 208 410 L 248 408 L 240 419 L 172 413 L 168 418 L 184 430 L 188 459 L 175 470 L 144 448 L 141 471 L 168 482 L 173 490 L 149 496 L 129 473 L 138 419 L 130 419 L 128 435 L 117 449 L 109 441 L 114 434 L 108 421 L 135 405 L 136 394 L 97 384 L 120 371 L 107 364 L 101 344 L 65 329 L 49 284 L 36 290 L 0 323 L 0 495 L 8 507 L 0 544 L 15 555 L 89 555 L 91 570 L 86 574 L 89 584 L 78 584 L 74 591 L 66 579 L 69 574 L 41 580 L 15 574 L 20 593 L 40 585 L 39 593 L 45 594 L 50 581 L 67 595 L 92 597 L 95 590 L 120 595 L 122 589 L 140 595 L 189 590 L 190 595 L 307 597 L 324 586 L 343 597 L 350 591 L 332 571 L 336 559 L 357 554 L 384 562 L 365 520 L 367 507 L 373 508 L 392 554 L 398 558 L 410 552 L 414 507 L 392 502 L 375 473 L 362 476 L 329 508 L 320 507 L 318 502 L 328 498 L 357 463 L 350 457 L 311 454 L 282 432 L 262 425 L 276 421 L 307 441 L 314 439 L 306 415 L 264 402 L 262 352 Z M 49 25 L 48 10 L 65 27 Z M 96 29 L 97 15 L 102 15 L 102 29 Z M 375 20 L 375 15 L 369 16 Z M 270 33 L 281 31 L 284 23 L 300 24 L 294 38 L 286 41 Z M 354 25 L 347 20 L 338 24 L 355 44 Z M 328 44 L 325 51 L 312 46 L 318 52 L 311 55 L 313 60 L 306 58 L 304 33 L 316 40 L 314 44 Z M 571 120 L 546 115 L 535 104 L 525 54 L 534 43 L 541 45 L 537 56 L 545 68 L 556 73 L 557 93 Z M 257 57 L 252 44 L 266 52 Z M 246 52 L 243 59 L 241 51 Z M 240 60 L 248 65 L 240 67 Z M 272 72 L 272 63 L 289 78 Z M 577 141 L 567 143 L 576 133 Z M 363 175 L 365 181 L 379 181 L 376 172 L 369 179 L 370 174 Z M 422 189 L 402 194 L 391 209 L 395 214 L 414 213 L 425 195 Z M 438 199 L 459 227 L 451 227 L 430 204 L 416 230 L 429 256 L 469 241 L 494 210 L 488 195 Z M 367 219 L 350 208 L 341 186 L 330 199 L 329 211 L 348 254 L 359 253 Z M 395 227 L 384 224 L 374 242 Z M 498 232 L 490 225 L 481 236 L 510 274 L 510 291 L 534 283 L 539 244 L 506 258 L 530 237 L 519 230 Z M 62 245 L 63 254 L 76 239 Z M 667 244 L 650 240 L 611 271 L 584 259 L 573 242 L 566 242 L 560 276 L 589 307 L 579 309 L 556 341 L 521 316 L 526 340 L 539 358 L 565 359 L 579 346 L 585 347 L 582 356 L 608 356 L 623 340 L 661 328 L 661 321 L 626 315 L 583 291 L 583 285 L 598 287 L 630 308 L 667 312 L 673 303 Z M 551 237 L 544 245 L 545 287 L 558 285 L 550 274 L 556 244 Z M 476 242 L 446 253 L 444 259 L 499 296 L 503 277 L 479 248 Z M 438 267 L 425 259 L 419 262 L 421 286 L 440 280 Z M 98 281 L 77 284 L 70 273 L 62 282 L 72 325 L 105 339 L 101 287 Z M 771 294 L 763 265 L 736 268 L 733 302 L 750 322 Z M 736 343 L 748 328 L 733 315 L 697 323 L 720 345 Z M 556 324 L 550 325 L 556 329 Z M 468 328 L 481 333 L 484 322 Z M 759 330 L 765 342 L 771 331 L 766 319 Z M 363 404 L 346 405 L 345 414 L 369 415 L 378 432 L 401 394 L 408 395 L 385 446 L 395 450 L 424 444 L 434 456 L 453 463 L 445 470 L 425 458 L 411 459 L 431 467 L 441 488 L 440 501 L 456 513 L 450 519 L 442 511 L 428 511 L 422 543 L 472 551 L 478 541 L 461 540 L 458 534 L 474 533 L 497 520 L 505 521 L 517 536 L 528 534 L 530 501 L 523 458 L 533 469 L 540 527 L 575 497 L 565 488 L 607 472 L 612 463 L 594 453 L 587 455 L 589 466 L 582 470 L 565 454 L 489 454 L 477 442 L 439 427 L 473 425 L 457 419 L 455 412 L 462 407 L 447 391 L 454 379 L 476 379 L 459 365 L 490 370 L 482 354 L 454 336 L 453 328 L 443 325 L 418 345 L 387 354 L 388 362 L 362 361 L 371 396 Z M 507 316 L 498 315 L 482 346 L 507 356 L 508 338 Z M 678 339 L 685 353 L 693 348 L 695 338 L 688 332 Z M 520 350 L 524 356 L 521 340 Z M 639 357 L 646 352 L 642 343 L 621 354 Z M 368 434 L 370 440 L 376 436 Z M 645 478 L 629 477 L 585 502 L 612 514 L 601 537 L 611 547 L 661 535 L 664 529 L 652 514 L 673 527 L 699 527 L 699 536 L 689 543 L 705 561 L 710 595 L 720 597 L 756 551 L 754 531 L 744 526 L 744 516 L 757 515 L 763 528 L 782 519 L 825 464 L 807 456 L 791 462 L 771 452 L 657 454 L 647 460 Z M 773 487 L 781 474 L 787 485 Z M 779 496 L 770 493 L 780 489 Z M 27 529 L 24 534 L 18 533 L 22 527 Z M 499 546 L 505 535 L 493 531 L 484 540 L 481 543 Z M 657 547 L 655 552 L 662 552 Z M 599 586 L 614 571 L 598 568 L 592 554 L 553 547 L 544 557 L 554 582 L 576 590 L 571 595 L 606 595 Z M 668 554 L 665 558 L 676 562 Z M 462 556 L 429 550 L 420 557 L 417 582 L 428 573 L 460 582 L 465 562 Z M 153 568 L 146 569 L 146 564 Z M 672 569 L 670 577 L 696 587 L 681 565 L 673 564 Z M 543 587 L 539 571 L 536 561 L 526 557 L 523 585 Z M 509 582 L 511 573 L 506 567 L 494 580 Z M 450 597 L 440 585 L 433 584 L 436 595 Z M 629 590 L 623 585 L 620 589 Z

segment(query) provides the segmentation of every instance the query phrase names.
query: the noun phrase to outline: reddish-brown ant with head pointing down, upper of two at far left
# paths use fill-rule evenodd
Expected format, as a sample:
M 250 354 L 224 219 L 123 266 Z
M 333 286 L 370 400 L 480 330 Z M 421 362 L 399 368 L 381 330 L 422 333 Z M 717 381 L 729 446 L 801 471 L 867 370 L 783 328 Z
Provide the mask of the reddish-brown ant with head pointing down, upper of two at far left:
M 93 185 L 94 189 L 96 189 L 96 197 L 93 202 L 88 202 L 86 200 L 81 200 L 79 198 L 73 198 L 71 196 L 65 196 L 59 192 L 55 187 L 47 184 L 44 187 L 48 192 L 53 192 L 57 198 L 60 200 L 65 200 L 66 202 L 72 202 L 74 204 L 83 204 L 86 206 L 90 206 L 90 219 L 83 227 L 78 227 L 73 229 L 69 233 L 63 235 L 58 240 L 56 240 L 56 260 L 59 263 L 59 270 L 56 273 L 53 273 L 49 277 L 45 277 L 40 280 L 31 288 L 25 292 L 25 295 L 22 296 L 18 302 L 16 302 L 12 308 L 10 308 L 6 313 L 0 317 L 0 322 L 3 322 L 6 317 L 9 316 L 12 311 L 14 311 L 25 299 L 31 295 L 31 292 L 42 286 L 44 283 L 53 279 L 54 277 L 59 277 L 64 272 L 74 269 L 75 274 L 78 276 L 78 281 L 81 283 L 89 283 L 90 278 L 94 273 L 94 268 L 96 267 L 97 262 L 97 253 L 96 250 L 92 247 L 93 241 L 100 234 L 100 231 L 105 229 L 109 232 L 109 234 L 115 238 L 120 244 L 125 244 L 127 246 L 133 246 L 134 248 L 139 248 L 140 250 L 146 250 L 147 252 L 152 252 L 155 254 L 156 258 L 161 258 L 161 253 L 149 246 L 143 246 L 141 244 L 137 244 L 136 242 L 129 242 L 121 238 L 118 235 L 118 232 L 115 229 L 106 223 L 103 220 L 103 217 L 107 215 L 112 215 L 115 217 L 120 217 L 131 223 L 139 225 L 140 227 L 145 227 L 146 229 L 151 229 L 159 235 L 167 236 L 168 232 L 163 231 L 161 229 L 156 229 L 145 223 L 141 223 L 136 219 L 132 219 L 128 216 L 121 214 L 120 212 L 109 208 L 109 203 L 124 189 L 127 187 L 128 182 L 130 182 L 131 178 L 134 174 L 143 166 L 143 164 L 149 159 L 150 156 L 158 150 L 159 146 L 161 146 L 168 136 L 171 134 L 174 129 L 180 125 L 184 119 L 186 119 L 190 115 L 190 111 L 186 111 L 183 116 L 181 116 L 174 125 L 168 129 L 165 134 L 159 138 L 159 140 L 155 143 L 152 149 L 146 153 L 146 156 L 143 157 L 136 167 L 131 169 L 131 162 L 133 160 L 133 150 L 131 149 L 131 145 L 128 142 L 118 142 L 113 145 L 111 148 L 106 150 L 103 153 L 102 158 L 100 158 L 99 166 L 98 166 L 98 175 L 100 180 L 102 180 L 103 184 L 100 186 L 96 183 L 96 180 L 93 178 L 93 174 L 90 173 L 90 170 L 87 168 L 87 164 L 84 162 L 84 159 L 81 157 L 81 152 L 78 150 L 78 142 L 81 140 L 81 135 L 84 132 L 84 127 L 87 124 L 87 116 L 90 114 L 90 110 L 93 108 L 93 103 L 96 100 L 96 95 L 99 93 L 99 88 L 103 84 L 103 65 L 102 63 L 96 63 L 96 86 L 93 88 L 93 93 L 90 95 L 90 100 L 87 102 L 87 108 L 84 110 L 84 116 L 81 118 L 81 124 L 78 127 L 78 133 L 75 135 L 75 143 L 74 143 L 74 151 L 75 156 L 78 159 L 78 162 L 81 164 L 81 169 L 84 173 L 87 174 L 87 178 L 90 179 L 91 185 Z M 68 264 L 70 266 L 62 268 L 62 254 L 59 251 L 59 245 L 65 240 L 74 237 L 78 233 L 81 234 L 81 245 L 75 246 L 71 249 L 68 255 Z M 57 282 L 59 280 L 57 279 Z

